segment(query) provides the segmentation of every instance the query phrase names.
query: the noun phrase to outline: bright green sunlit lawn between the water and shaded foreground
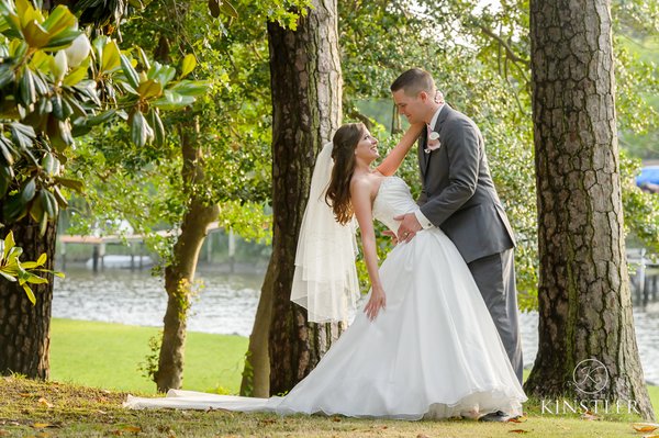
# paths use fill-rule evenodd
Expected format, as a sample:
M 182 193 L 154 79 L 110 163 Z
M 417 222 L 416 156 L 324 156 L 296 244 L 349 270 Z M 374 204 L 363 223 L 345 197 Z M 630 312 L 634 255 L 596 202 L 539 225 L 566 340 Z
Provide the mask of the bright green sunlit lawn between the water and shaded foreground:
M 137 371 L 149 355 L 155 327 L 53 319 L 51 379 L 108 390 L 155 393 Z M 237 393 L 247 338 L 188 333 L 183 389 Z

